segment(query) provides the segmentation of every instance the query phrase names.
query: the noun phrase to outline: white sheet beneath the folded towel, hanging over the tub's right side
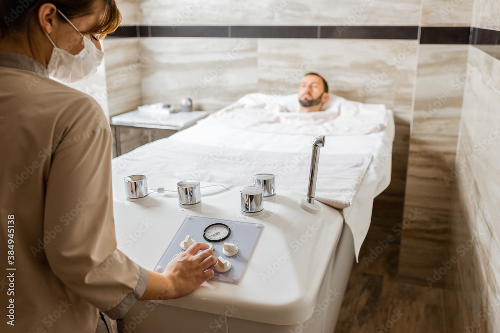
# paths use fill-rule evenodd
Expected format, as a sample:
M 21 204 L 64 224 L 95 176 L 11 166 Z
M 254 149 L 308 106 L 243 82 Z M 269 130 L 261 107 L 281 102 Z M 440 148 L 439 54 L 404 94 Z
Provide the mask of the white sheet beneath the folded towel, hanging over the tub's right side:
M 200 122 L 193 127 L 176 133 L 170 138 L 184 143 L 220 148 L 221 150 L 229 145 L 232 149 L 299 154 L 303 150 L 312 151 L 310 143 L 315 137 L 311 135 L 256 133 L 239 128 Z M 389 110 L 388 124 L 384 131 L 364 135 L 327 135 L 325 146 L 321 148 L 320 167 L 321 156 L 325 154 L 366 154 L 372 156 L 372 161 L 362 182 L 359 184 L 359 190 L 352 201 L 352 205 L 341 210 L 345 222 L 353 233 L 356 260 L 358 260 L 359 251 L 371 223 L 373 199 L 390 183 L 393 140 L 394 117 L 392 111 Z M 121 176 L 127 172 L 128 174 L 145 172 L 137 169 L 136 163 L 133 163 L 135 167 L 131 168 L 130 160 L 139 161 L 144 166 L 144 169 L 147 169 L 147 165 L 154 163 L 154 161 L 148 160 L 147 154 L 144 155 L 143 152 L 148 150 L 149 145 L 157 144 L 157 141 L 152 142 L 114 159 L 113 173 Z M 165 154 L 168 154 L 168 152 L 165 151 Z

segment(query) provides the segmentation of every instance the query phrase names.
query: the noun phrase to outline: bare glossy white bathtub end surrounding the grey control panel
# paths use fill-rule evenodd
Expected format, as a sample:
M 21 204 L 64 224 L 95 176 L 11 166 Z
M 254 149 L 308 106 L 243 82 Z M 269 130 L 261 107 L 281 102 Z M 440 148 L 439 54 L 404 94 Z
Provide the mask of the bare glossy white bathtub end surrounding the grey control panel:
M 352 234 L 337 210 L 319 203 L 320 213 L 311 214 L 299 205 L 302 194 L 278 190 L 264 203 L 268 215 L 243 217 L 238 190 L 184 210 L 173 195 L 127 202 L 122 186 L 115 181 L 118 246 L 149 269 L 187 215 L 264 225 L 238 284 L 208 281 L 180 299 L 138 301 L 124 317 L 126 332 L 333 332 L 354 260 Z

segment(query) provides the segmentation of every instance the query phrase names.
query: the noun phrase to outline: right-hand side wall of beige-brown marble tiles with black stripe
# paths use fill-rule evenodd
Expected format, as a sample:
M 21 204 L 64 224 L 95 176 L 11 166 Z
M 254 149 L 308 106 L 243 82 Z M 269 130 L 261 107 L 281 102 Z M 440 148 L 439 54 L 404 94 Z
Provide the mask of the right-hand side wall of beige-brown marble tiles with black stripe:
M 500 15 L 499 0 L 476 0 L 457 158 L 447 181 L 454 189 L 445 300 L 459 313 L 452 332 L 500 328 Z M 479 32 L 476 37 L 476 32 Z M 484 37 L 481 37 L 481 32 Z

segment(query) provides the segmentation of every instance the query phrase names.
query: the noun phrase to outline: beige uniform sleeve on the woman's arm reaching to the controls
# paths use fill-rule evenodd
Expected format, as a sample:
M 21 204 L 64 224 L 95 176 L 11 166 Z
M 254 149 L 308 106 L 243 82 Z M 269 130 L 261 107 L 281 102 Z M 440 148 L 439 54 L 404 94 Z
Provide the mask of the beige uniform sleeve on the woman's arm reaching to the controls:
M 45 247 L 54 274 L 115 319 L 142 296 L 149 273 L 116 248 L 111 140 L 110 130 L 98 127 L 63 140 L 56 148 L 47 181 L 44 228 L 56 231 Z

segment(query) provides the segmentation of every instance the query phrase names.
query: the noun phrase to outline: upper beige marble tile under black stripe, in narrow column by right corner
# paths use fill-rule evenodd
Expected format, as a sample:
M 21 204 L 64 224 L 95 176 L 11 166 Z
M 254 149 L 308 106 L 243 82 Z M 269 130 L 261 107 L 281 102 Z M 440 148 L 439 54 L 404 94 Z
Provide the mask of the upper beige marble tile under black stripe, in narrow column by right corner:
M 458 135 L 468 45 L 420 45 L 412 134 Z

